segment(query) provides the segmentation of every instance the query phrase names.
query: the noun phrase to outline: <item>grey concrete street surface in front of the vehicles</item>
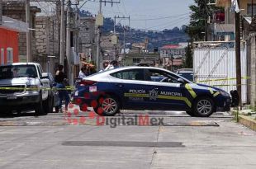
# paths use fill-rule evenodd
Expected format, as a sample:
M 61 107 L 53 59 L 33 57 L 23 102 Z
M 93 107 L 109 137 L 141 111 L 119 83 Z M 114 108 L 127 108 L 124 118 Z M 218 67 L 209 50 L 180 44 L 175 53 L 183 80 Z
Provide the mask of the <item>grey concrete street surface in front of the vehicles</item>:
M 145 115 L 164 123 L 122 122 Z M 184 112 L 122 111 L 106 121 L 75 110 L 39 117 L 31 112 L 1 115 L 0 168 L 256 167 L 256 133 L 226 112 L 192 118 Z

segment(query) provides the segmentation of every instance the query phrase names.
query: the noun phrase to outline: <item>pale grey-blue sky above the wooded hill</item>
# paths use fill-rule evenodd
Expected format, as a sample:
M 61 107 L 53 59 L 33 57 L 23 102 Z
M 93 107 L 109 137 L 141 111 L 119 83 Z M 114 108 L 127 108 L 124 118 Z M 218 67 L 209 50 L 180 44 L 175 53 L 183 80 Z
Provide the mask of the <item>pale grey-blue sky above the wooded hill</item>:
M 115 15 L 130 15 L 130 26 L 133 28 L 162 31 L 186 25 L 189 21 L 188 7 L 193 2 L 193 0 L 121 0 L 120 4 L 114 4 L 113 7 L 111 4 L 107 4 L 106 7 L 103 4 L 102 11 L 104 16 L 112 18 Z M 98 0 L 83 6 L 84 10 L 92 14 L 97 14 L 98 8 Z M 121 24 L 128 25 L 128 21 L 121 21 Z

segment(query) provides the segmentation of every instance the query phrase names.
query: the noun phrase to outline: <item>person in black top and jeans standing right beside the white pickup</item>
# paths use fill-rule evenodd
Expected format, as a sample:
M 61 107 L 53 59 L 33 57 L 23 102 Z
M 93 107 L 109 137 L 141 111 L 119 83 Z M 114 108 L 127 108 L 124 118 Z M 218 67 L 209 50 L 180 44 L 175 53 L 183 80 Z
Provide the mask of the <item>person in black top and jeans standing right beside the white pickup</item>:
M 65 110 L 68 110 L 68 106 L 69 106 L 69 92 L 65 90 L 65 85 L 64 85 L 64 81 L 65 79 L 65 75 L 64 75 L 64 66 L 59 64 L 58 66 L 58 70 L 55 74 L 55 82 L 57 83 L 56 87 L 59 91 L 59 110 L 62 110 L 62 101 L 64 99 L 65 101 Z

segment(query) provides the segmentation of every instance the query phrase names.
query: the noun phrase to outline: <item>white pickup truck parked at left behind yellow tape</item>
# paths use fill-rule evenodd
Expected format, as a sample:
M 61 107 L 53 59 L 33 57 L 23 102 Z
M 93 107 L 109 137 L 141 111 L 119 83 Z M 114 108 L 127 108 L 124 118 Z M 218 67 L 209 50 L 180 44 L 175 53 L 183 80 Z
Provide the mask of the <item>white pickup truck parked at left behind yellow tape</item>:
M 35 110 L 47 115 L 53 110 L 50 80 L 39 63 L 0 66 L 0 111 Z

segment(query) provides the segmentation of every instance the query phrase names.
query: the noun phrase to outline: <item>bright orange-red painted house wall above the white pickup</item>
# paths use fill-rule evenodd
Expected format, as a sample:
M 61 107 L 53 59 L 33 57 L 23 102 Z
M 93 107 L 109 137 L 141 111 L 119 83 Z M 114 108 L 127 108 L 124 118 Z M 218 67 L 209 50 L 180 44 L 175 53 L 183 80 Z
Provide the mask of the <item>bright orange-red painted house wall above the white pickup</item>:
M 13 62 L 18 62 L 18 33 L 0 28 L 0 64 L 2 63 L 1 49 L 4 49 L 4 63 L 7 63 L 7 48 L 12 48 Z

